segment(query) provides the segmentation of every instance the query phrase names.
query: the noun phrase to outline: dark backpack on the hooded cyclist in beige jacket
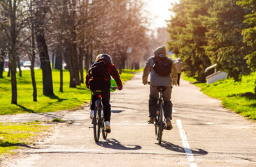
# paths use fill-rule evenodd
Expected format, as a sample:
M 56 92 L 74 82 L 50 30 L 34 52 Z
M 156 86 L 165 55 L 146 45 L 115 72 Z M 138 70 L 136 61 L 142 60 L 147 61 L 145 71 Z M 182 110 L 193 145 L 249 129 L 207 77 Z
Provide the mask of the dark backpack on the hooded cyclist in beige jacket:
M 169 58 L 160 58 L 155 56 L 153 58 L 155 65 L 152 67 L 154 71 L 161 76 L 169 76 L 171 74 L 172 61 Z

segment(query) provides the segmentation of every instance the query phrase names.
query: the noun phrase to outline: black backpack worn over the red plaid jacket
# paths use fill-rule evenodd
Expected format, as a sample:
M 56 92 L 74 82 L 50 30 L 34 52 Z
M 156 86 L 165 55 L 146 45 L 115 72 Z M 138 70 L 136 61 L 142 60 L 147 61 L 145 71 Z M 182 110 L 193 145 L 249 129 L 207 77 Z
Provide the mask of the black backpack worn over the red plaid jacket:
M 104 60 L 99 60 L 99 61 L 95 61 L 92 64 L 91 67 L 91 72 L 92 72 L 92 77 L 105 77 L 106 73 L 106 63 Z

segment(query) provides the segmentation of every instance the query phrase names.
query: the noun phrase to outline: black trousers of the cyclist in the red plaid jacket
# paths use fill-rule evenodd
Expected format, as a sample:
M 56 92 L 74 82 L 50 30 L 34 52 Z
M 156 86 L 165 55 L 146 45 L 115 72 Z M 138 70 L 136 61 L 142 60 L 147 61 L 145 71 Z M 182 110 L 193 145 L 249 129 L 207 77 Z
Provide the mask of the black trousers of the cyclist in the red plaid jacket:
M 102 104 L 104 110 L 105 121 L 111 120 L 111 90 L 110 86 L 105 81 L 90 81 L 90 90 L 92 91 L 92 104 L 91 110 L 95 109 L 95 102 L 98 99 L 97 95 L 94 95 L 96 90 L 101 90 Z

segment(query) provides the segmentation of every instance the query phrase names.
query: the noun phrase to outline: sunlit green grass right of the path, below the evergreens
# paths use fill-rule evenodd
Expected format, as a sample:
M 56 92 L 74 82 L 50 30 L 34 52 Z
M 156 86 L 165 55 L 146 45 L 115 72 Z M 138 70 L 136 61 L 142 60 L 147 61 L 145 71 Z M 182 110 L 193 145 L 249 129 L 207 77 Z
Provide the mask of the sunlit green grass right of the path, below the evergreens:
M 187 77 L 184 77 L 187 80 Z M 201 91 L 222 101 L 226 109 L 231 109 L 241 116 L 256 120 L 256 95 L 253 94 L 255 87 L 256 72 L 243 76 L 241 82 L 234 79 L 223 79 L 213 84 L 195 84 Z M 194 81 L 190 78 L 190 81 Z M 249 93 L 249 95 L 246 95 Z

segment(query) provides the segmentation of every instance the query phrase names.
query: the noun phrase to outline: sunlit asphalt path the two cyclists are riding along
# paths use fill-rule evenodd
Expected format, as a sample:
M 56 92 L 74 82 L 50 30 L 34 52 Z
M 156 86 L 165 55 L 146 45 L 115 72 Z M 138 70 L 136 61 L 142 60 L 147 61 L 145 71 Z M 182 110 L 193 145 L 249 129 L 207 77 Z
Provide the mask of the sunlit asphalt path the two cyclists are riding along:
M 224 109 L 220 101 L 181 79 L 173 86 L 173 129 L 162 144 L 148 125 L 149 86 L 142 73 L 111 93 L 111 134 L 94 142 L 90 109 L 0 116 L 1 122 L 66 120 L 49 137 L 2 166 L 256 166 L 256 124 Z

